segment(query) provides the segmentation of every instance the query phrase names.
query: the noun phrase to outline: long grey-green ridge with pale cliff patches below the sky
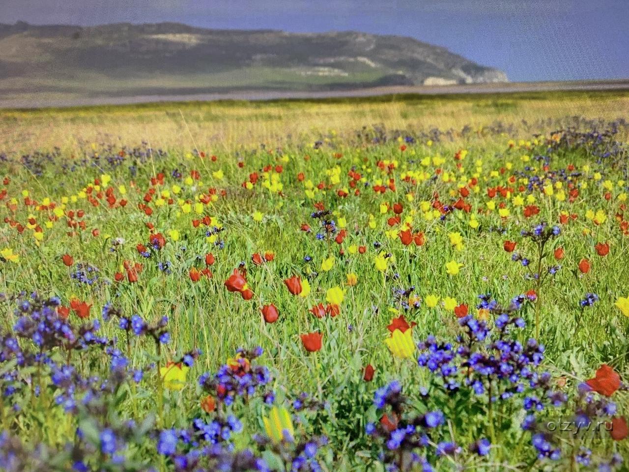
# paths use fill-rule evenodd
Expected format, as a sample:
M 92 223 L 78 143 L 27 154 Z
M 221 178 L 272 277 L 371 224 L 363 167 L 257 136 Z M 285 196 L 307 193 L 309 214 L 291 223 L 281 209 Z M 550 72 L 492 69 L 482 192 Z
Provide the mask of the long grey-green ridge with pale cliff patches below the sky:
M 0 94 L 52 99 L 507 82 L 413 38 L 180 23 L 0 24 Z

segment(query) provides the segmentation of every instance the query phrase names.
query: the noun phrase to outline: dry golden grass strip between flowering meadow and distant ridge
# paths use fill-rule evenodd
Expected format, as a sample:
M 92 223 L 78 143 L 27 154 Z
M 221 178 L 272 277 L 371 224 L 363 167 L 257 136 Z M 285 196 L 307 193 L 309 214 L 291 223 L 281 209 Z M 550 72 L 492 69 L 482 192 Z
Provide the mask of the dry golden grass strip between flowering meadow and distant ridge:
M 84 108 L 0 111 L 0 152 L 31 152 L 82 142 L 167 149 L 233 150 L 266 143 L 305 142 L 322 133 L 347 135 L 383 123 L 389 129 L 460 130 L 501 121 L 571 116 L 615 120 L 626 116 L 629 92 L 534 92 L 463 96 L 387 96 L 320 101 L 158 103 Z

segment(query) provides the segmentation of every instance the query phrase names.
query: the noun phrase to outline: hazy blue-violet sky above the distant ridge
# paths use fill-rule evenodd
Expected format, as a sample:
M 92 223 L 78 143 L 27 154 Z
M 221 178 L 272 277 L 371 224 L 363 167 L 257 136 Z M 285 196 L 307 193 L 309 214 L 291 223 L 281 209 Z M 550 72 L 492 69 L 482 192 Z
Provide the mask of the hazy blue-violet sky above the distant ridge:
M 0 0 L 0 23 L 178 21 L 442 45 L 511 81 L 629 78 L 629 0 Z

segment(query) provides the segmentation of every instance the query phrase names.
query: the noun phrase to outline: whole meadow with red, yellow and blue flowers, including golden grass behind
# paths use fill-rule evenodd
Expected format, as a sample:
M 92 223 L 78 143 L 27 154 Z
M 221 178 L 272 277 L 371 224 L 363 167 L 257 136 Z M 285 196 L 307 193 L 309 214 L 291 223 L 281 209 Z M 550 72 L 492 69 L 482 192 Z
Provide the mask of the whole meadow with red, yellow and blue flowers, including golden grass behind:
M 627 470 L 627 100 L 0 111 L 0 469 Z

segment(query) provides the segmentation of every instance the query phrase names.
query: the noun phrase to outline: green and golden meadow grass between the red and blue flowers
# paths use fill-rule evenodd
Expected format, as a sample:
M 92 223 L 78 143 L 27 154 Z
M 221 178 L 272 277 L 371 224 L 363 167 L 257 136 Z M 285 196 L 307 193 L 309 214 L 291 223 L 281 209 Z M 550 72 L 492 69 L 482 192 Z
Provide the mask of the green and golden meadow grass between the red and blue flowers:
M 626 264 L 629 243 L 616 218 L 624 213 L 627 195 L 627 128 L 621 125 L 618 133 L 605 138 L 604 147 L 596 147 L 591 140 L 587 145 L 576 146 L 572 144 L 575 142 L 572 135 L 568 135 L 569 144 L 559 145 L 550 152 L 548 146 L 554 142 L 550 132 L 562 124 L 573 123 L 582 131 L 589 130 L 588 119 L 609 120 L 610 114 L 621 110 L 628 98 L 626 93 L 560 93 L 554 94 L 553 99 L 547 94 L 398 96 L 364 101 L 6 110 L 0 115 L 1 128 L 10 130 L 4 138 L 8 160 L 0 164 L 4 174 L 0 176 L 8 177 L 8 182 L 0 187 L 6 189 L 0 203 L 7 218 L 0 225 L 0 249 L 10 248 L 18 254 L 19 261 L 0 262 L 0 291 L 14 294 L 36 290 L 41 295 L 58 296 L 64 306 L 72 298 L 85 300 L 93 304 L 91 319 L 101 318 L 101 309 L 107 302 L 120 307 L 126 315 L 136 313 L 148 321 L 167 315 L 171 340 L 161 357 L 155 356 L 152 340 L 134 339 L 128 352 L 132 366 L 152 361 L 164 364 L 179 359 L 194 347 L 203 351 L 187 375 L 184 390 L 167 391 L 162 400 L 157 376 L 149 373 L 137 391 L 129 390 L 115 411 L 108 411 L 99 421 L 105 421 L 113 413 L 138 421 L 155 413 L 161 427 L 186 427 L 192 417 L 204 414 L 200 412 L 199 401 L 206 394 L 196 385 L 199 374 L 216 372 L 237 347 L 262 346 L 265 354 L 259 362 L 269 366 L 276 376 L 272 387 L 278 403 L 288 405 L 289 400 L 303 391 L 328 402 L 325 412 L 305 415 L 304 425 L 298 427 L 299 434 L 325 434 L 330 438 L 330 457 L 323 461 L 325 470 L 379 469 L 364 427 L 367 420 L 376 418 L 371 407 L 374 390 L 392 379 L 401 380 L 404 391 L 413 398 L 414 408 L 420 412 L 438 407 L 454 415 L 448 417 L 450 423 L 442 438 L 467 446 L 479 435 L 488 434 L 487 410 L 476 400 L 465 400 L 462 394 L 435 395 L 433 403 L 421 399 L 418 389 L 430 384 L 430 375 L 418 368 L 415 359 L 392 356 L 384 342 L 390 335 L 387 325 L 403 313 L 409 321 L 417 323 L 413 328 L 415 342 L 430 334 L 454 339 L 459 327 L 454 313 L 443 306 L 443 300 L 449 297 L 457 304 L 465 303 L 476 316 L 475 305 L 480 294 L 491 293 L 500 303 L 508 304 L 513 296 L 538 288 L 534 280 L 526 277 L 527 269 L 511 261 L 511 254 L 503 250 L 503 242 L 515 241 L 516 252 L 529 257 L 534 267 L 535 245 L 521 236 L 521 230 L 542 221 L 558 224 L 563 213 L 574 214 L 576 220 L 561 225 L 560 237 L 548 243 L 543 263 L 562 266 L 538 288 L 539 339 L 546 346 L 543 366 L 552 374 L 553 383 L 567 379 L 563 391 L 571 399 L 569 405 L 576 396 L 577 384 L 593 377 L 603 363 L 613 366 L 626 381 L 629 318 L 615 303 L 620 297 L 629 296 Z M 602 101 L 607 103 L 604 111 L 601 111 Z M 583 118 L 570 118 L 579 108 Z M 521 121 L 523 118 L 530 123 L 537 121 L 527 127 Z M 492 126 L 495 121 L 503 121 L 504 129 Z M 381 138 L 387 140 L 376 143 L 370 139 L 377 135 L 372 125 L 381 122 L 386 125 Z M 357 137 L 362 125 L 367 126 L 369 139 Z M 464 125 L 470 125 L 473 131 L 460 133 Z M 428 134 L 435 126 L 445 133 L 440 139 Z M 448 134 L 452 129 L 455 132 Z M 533 133 L 542 135 L 534 138 Z M 408 143 L 406 150 L 401 151 L 406 135 L 415 137 L 415 142 Z M 147 136 L 152 152 L 140 145 Z M 321 149 L 313 147 L 315 140 L 323 142 Z M 515 141 L 510 143 L 511 140 Z M 616 141 L 620 143 L 614 145 Z M 20 159 L 25 152 L 37 149 L 46 152 L 55 145 L 61 150 L 53 162 L 33 156 L 25 164 Z M 123 146 L 128 146 L 127 152 L 136 147 L 138 157 L 127 155 L 120 166 L 109 166 L 107 158 L 115 157 Z M 158 148 L 168 154 L 159 156 Z M 467 150 L 467 156 L 457 161 L 454 155 L 460 149 Z M 612 150 L 613 154 L 599 164 L 596 154 L 603 149 Z M 206 157 L 194 155 L 197 150 L 205 152 Z M 209 158 L 213 154 L 217 157 L 215 162 Z M 547 194 L 548 189 L 542 191 L 542 186 L 529 190 L 526 188 L 529 177 L 540 177 L 547 185 L 557 175 L 543 171 L 540 162 L 532 159 L 535 155 L 548 156 L 548 172 L 565 171 L 572 165 L 578 175 L 557 179 L 560 185 L 555 186 L 552 195 Z M 84 158 L 85 166 L 81 164 Z M 422 162 L 424 159 L 428 162 Z M 396 161 L 391 174 L 377 165 L 381 160 Z M 41 166 L 33 165 L 40 161 Z M 238 162 L 243 163 L 242 167 Z M 130 166 L 135 170 L 131 171 Z M 265 166 L 272 166 L 271 170 L 265 172 Z M 273 170 L 275 166 L 282 166 L 281 173 Z M 339 180 L 335 181 L 331 174 L 337 166 Z M 175 169 L 182 173 L 182 179 L 172 176 Z M 349 186 L 348 172 L 352 169 L 364 178 L 357 185 L 359 195 Z M 503 173 L 500 169 L 504 169 Z M 200 181 L 186 183 L 191 171 L 199 172 Z M 216 171 L 222 171 L 224 177 L 217 177 Z M 165 176 L 164 183 L 151 184 L 151 177 L 160 172 Z M 252 189 L 243 188 L 243 182 L 248 181 L 252 172 L 259 173 L 260 181 Z M 418 172 L 411 176 L 415 182 L 404 181 L 408 172 Z M 265 173 L 269 179 L 278 179 L 283 186 L 281 192 L 260 185 Z M 298 179 L 300 173 L 304 174 L 303 182 Z M 445 181 L 444 174 L 454 179 Z M 95 188 L 94 183 L 94 179 L 102 179 L 103 175 L 111 179 L 107 187 L 116 199 L 111 206 L 104 195 L 92 203 L 86 198 L 89 188 L 92 196 L 103 191 Z M 386 184 L 389 178 L 395 179 L 396 189 L 374 193 L 372 186 Z M 472 179 L 476 179 L 476 185 L 470 184 Z M 323 190 L 309 195 L 308 181 L 315 187 L 322 182 Z M 520 185 L 522 190 L 518 189 Z M 120 186 L 125 186 L 126 193 L 121 193 Z M 175 194 L 175 186 L 181 192 Z M 508 186 L 513 194 L 509 198 L 489 198 L 487 189 L 496 186 Z M 574 201 L 569 199 L 569 186 L 579 189 Z M 465 198 L 470 211 L 456 210 L 440 220 L 431 206 L 435 194 L 441 203 L 449 205 L 459 198 L 462 187 L 470 191 Z M 146 203 L 143 198 L 149 189 L 155 191 L 147 204 L 152 210 L 150 216 L 138 208 Z M 208 194 L 209 189 L 216 189 L 215 201 L 203 205 L 200 214 L 194 209 L 191 213 L 184 212 L 186 202 L 194 208 L 199 196 Z M 339 190 L 347 191 L 348 196 L 338 196 Z M 25 204 L 25 191 L 38 205 Z M 156 196 L 164 191 L 173 201 L 168 203 L 169 197 L 165 196 L 164 205 L 157 205 Z M 605 197 L 608 192 L 609 199 Z M 562 193 L 565 198 L 561 198 Z M 525 202 L 527 197 L 532 201 L 518 205 L 516 196 Z M 45 199 L 56 204 L 58 213 L 39 206 Z M 126 206 L 120 206 L 121 199 L 128 201 Z M 320 228 L 318 220 L 310 215 L 318 202 L 333 212 L 337 223 L 346 220 L 347 236 L 342 244 L 316 239 L 315 233 Z M 402 223 L 391 226 L 388 219 L 394 213 L 386 205 L 397 202 L 403 205 Z M 496 208 L 488 206 L 491 203 Z M 508 215 L 499 215 L 500 203 L 509 211 Z M 526 218 L 525 205 L 537 205 L 540 213 Z M 76 218 L 84 222 L 85 229 L 69 235 L 72 232 L 67 225 L 69 211 L 78 210 L 85 212 Z M 590 210 L 601 211 L 605 221 L 594 223 L 588 216 Z M 262 214 L 261 221 L 253 217 L 257 212 Z M 192 224 L 204 215 L 212 218 L 211 226 L 223 228 L 216 240 L 206 237 L 203 225 L 196 228 Z M 401 244 L 398 232 L 405 221 L 414 230 L 425 233 L 425 245 Z M 153 232 L 162 233 L 167 242 L 163 249 L 145 259 L 138 254 L 136 245 L 148 245 L 147 223 L 152 223 Z M 301 230 L 304 223 L 313 232 Z M 19 233 L 16 224 L 26 228 Z M 36 231 L 37 227 L 41 227 L 41 232 Z M 92 230 L 98 234 L 92 235 Z M 178 240 L 174 240 L 172 230 L 179 232 Z M 462 247 L 451 244 L 451 233 L 462 235 Z M 41 234 L 39 239 L 36 234 Z M 124 244 L 111 250 L 116 238 L 123 239 Z M 222 244 L 217 245 L 218 242 Z M 610 254 L 598 256 L 594 249 L 598 242 L 607 242 Z M 354 253 L 355 247 L 362 245 L 367 248 L 365 254 Z M 564 247 L 565 256 L 555 262 L 552 250 L 559 246 Z M 255 266 L 252 254 L 265 251 L 273 252 L 274 260 Z M 205 267 L 202 258 L 209 252 L 216 257 L 216 263 L 209 267 L 213 277 L 192 282 L 190 269 Z M 391 254 L 384 272 L 374 265 L 381 252 Z M 99 281 L 88 285 L 71 279 L 70 273 L 76 267 L 64 266 L 61 261 L 64 254 L 72 255 L 75 264 L 96 266 Z M 305 256 L 311 257 L 311 262 L 304 261 Z M 321 263 L 328 257 L 334 257 L 335 264 L 330 271 L 324 271 Z M 587 274 L 577 268 L 581 259 L 591 263 Z M 114 281 L 117 272 L 125 273 L 123 261 L 143 265 L 137 283 Z M 158 262 L 166 261 L 170 263 L 170 274 L 157 267 Z M 249 301 L 238 293 L 228 292 L 224 286 L 241 261 L 245 262 L 248 285 L 254 293 Z M 446 264 L 450 261 L 462 264 L 460 274 L 447 273 Z M 355 286 L 347 286 L 347 274 L 357 275 Z M 294 275 L 309 279 L 312 291 L 306 298 L 290 295 L 284 286 L 284 279 Z M 336 286 L 345 290 L 340 314 L 321 319 L 311 315 L 308 309 L 317 303 L 325 304 L 326 291 Z M 413 295 L 420 297 L 421 306 L 406 311 L 394 292 L 410 286 L 415 286 Z M 586 293 L 596 293 L 600 300 L 582 309 L 579 301 Z M 426 297 L 430 295 L 439 297 L 437 306 L 426 306 Z M 260 308 L 269 303 L 279 310 L 279 320 L 272 324 L 264 323 L 260 316 Z M 6 329 L 13 325 L 12 309 L 5 308 Z M 525 342 L 535 336 L 533 303 L 526 303 L 522 315 L 527 325 L 516 331 L 515 336 Z M 490 319 L 494 317 L 490 315 Z M 75 324 L 80 322 L 74 313 L 70 319 Z M 323 347 L 320 352 L 309 354 L 299 335 L 314 331 L 323 333 Z M 121 349 L 126 349 L 126 340 L 115 322 L 104 322 L 102 333 L 118 336 Z M 72 359 L 82 373 L 104 374 L 106 361 L 94 351 L 77 352 Z M 373 383 L 362 381 L 362 369 L 367 364 L 376 368 Z M 53 390 L 50 388 L 51 393 Z M 52 395 L 48 401 L 50 398 Z M 3 428 L 14 430 L 26 442 L 42 441 L 55 448 L 74 438 L 78 417 L 63 413 L 52 403 L 47 405 L 41 396 L 31 398 L 28 391 L 16 401 L 27 400 L 32 400 L 35 407 L 4 414 Z M 618 404 L 619 414 L 629 413 L 626 391 L 616 392 L 613 400 Z M 524 414 L 521 401 L 521 397 L 515 398 L 508 403 L 511 406 L 499 407 L 495 412 L 496 447 L 489 458 L 475 459 L 462 452 L 457 460 L 470 468 L 490 470 L 528 470 L 532 469 L 531 464 L 542 468 L 542 462 L 535 461 L 530 437 L 521 436 L 519 422 Z M 457 417 L 453 413 L 459 411 L 457 408 L 465 413 L 457 413 Z M 475 408 L 481 410 L 474 413 Z M 262 417 L 268 409 L 259 399 L 233 408 L 245 428 L 235 439 L 237 447 L 251 446 L 251 435 L 264 432 Z M 42 412 L 46 412 L 43 417 Z M 597 458 L 606 458 L 612 452 L 628 454 L 626 441 L 615 443 L 605 434 L 587 437 L 582 444 L 592 447 Z M 160 470 L 172 469 L 169 461 L 158 458 L 155 447 L 147 441 L 148 445 L 141 442 L 141 446 L 131 447 L 126 454 L 156 464 Z M 570 461 L 564 461 L 562 464 L 569 470 Z M 498 466 L 498 463 L 507 465 Z M 443 470 L 452 466 L 445 459 L 439 464 Z

